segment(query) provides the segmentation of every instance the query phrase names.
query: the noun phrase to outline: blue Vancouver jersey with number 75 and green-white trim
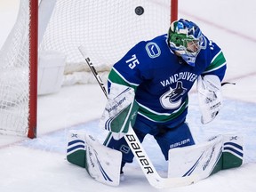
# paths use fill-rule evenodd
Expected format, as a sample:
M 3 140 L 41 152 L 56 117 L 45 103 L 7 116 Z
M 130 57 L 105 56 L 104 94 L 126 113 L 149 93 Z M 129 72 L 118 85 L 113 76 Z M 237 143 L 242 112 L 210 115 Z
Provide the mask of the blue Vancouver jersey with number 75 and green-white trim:
M 197 76 L 213 74 L 223 79 L 226 60 L 220 47 L 204 36 L 195 67 L 189 66 L 169 48 L 167 35 L 156 36 L 136 44 L 116 62 L 108 76 L 111 83 L 124 84 L 135 90 L 140 108 L 138 116 L 165 124 L 188 113 L 188 91 Z

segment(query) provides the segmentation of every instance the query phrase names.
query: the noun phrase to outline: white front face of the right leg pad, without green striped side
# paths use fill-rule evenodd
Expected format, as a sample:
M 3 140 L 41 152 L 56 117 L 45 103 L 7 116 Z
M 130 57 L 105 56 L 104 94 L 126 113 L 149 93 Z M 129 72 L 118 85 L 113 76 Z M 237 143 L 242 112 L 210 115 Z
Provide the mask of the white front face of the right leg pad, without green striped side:
M 222 136 L 201 145 L 169 150 L 168 177 L 197 174 L 200 180 L 208 177 L 222 154 Z

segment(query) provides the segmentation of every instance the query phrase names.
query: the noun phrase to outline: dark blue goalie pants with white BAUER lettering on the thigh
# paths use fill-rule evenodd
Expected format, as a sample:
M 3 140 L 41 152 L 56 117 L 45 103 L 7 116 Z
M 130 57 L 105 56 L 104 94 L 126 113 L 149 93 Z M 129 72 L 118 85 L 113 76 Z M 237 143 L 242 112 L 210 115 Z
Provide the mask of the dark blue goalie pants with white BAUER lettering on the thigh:
M 138 115 L 133 130 L 140 142 L 144 140 L 147 134 L 154 136 L 165 160 L 168 160 L 168 151 L 170 148 L 185 147 L 195 144 L 188 124 L 185 123 L 183 119 L 176 124 L 156 124 Z M 108 146 L 108 148 L 120 150 L 123 153 L 122 166 L 124 166 L 125 163 L 132 163 L 134 155 L 124 138 L 116 140 L 114 137 L 109 137 L 105 140 L 104 145 Z

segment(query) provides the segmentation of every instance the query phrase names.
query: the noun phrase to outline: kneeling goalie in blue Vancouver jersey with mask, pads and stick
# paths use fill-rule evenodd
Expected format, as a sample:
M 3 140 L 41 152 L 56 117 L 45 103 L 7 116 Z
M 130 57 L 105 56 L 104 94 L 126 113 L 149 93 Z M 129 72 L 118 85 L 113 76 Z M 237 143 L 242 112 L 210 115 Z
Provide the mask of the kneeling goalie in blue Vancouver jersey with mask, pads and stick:
M 152 186 L 168 188 L 188 185 L 221 169 L 240 166 L 242 137 L 220 133 L 197 144 L 186 121 L 188 92 L 196 82 L 202 124 L 212 122 L 220 114 L 221 81 L 226 68 L 220 47 L 189 20 L 176 20 L 167 34 L 134 45 L 109 73 L 109 95 L 100 127 L 110 134 L 104 147 L 86 137 L 83 157 L 86 170 L 96 180 L 118 185 L 124 165 L 132 163 L 135 157 Z M 157 174 L 141 146 L 148 134 L 154 137 L 169 163 L 168 178 Z M 108 161 L 103 164 L 100 160 L 100 153 L 105 150 L 115 156 L 111 170 L 104 168 Z M 98 170 L 94 164 L 98 164 Z M 109 182 L 111 177 L 105 178 L 110 173 L 115 182 Z

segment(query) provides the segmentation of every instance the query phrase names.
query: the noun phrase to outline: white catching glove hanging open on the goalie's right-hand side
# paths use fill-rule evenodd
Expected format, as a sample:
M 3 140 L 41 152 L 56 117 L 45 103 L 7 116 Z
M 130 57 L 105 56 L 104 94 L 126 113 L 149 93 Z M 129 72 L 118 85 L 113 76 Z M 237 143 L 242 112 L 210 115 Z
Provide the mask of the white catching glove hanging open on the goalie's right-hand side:
M 222 107 L 221 83 L 218 76 L 198 76 L 197 92 L 202 124 L 211 122 Z

